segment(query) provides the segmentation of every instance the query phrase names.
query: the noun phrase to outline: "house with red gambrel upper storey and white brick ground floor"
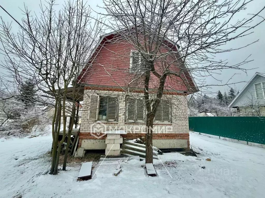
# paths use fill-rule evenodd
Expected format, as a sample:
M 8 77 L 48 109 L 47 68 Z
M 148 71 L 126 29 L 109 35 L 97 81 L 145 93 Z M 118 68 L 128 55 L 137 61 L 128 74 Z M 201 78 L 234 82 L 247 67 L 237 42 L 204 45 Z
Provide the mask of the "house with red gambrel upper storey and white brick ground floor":
M 104 132 L 110 127 L 124 130 L 127 134 L 122 136 L 126 139 L 145 136 L 142 130 L 146 125 L 143 88 L 137 89 L 140 82 L 132 88 L 127 77 L 134 72 L 134 64 L 141 60 L 133 46 L 125 40 L 119 41 L 117 35 L 112 32 L 101 36 L 88 67 L 79 77 L 80 83 L 85 85 L 78 146 L 84 149 L 105 149 Z M 176 46 L 174 50 L 177 51 Z M 167 97 L 160 102 L 154 119 L 153 145 L 189 149 L 187 95 L 197 88 L 188 72 L 183 74 L 184 84 L 179 83 L 179 77 L 175 78 L 167 78 L 165 83 Z M 193 87 L 193 91 L 188 87 Z M 128 95 L 131 89 L 134 97 Z M 161 131 L 161 128 L 168 129 Z M 93 131 L 97 134 L 92 135 Z

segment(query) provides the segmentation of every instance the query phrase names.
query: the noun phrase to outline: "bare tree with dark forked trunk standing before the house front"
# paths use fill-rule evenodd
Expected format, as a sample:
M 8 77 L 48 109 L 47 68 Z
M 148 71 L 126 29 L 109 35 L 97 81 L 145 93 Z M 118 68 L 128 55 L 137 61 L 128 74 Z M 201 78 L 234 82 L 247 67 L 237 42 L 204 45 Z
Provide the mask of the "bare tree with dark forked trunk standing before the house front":
M 128 80 L 131 87 L 140 87 L 144 92 L 146 163 L 153 162 L 152 127 L 163 94 L 169 92 L 166 82 L 185 86 L 187 93 L 193 93 L 197 88 L 192 79 L 185 78 L 188 73 L 196 77 L 200 82 L 198 88 L 202 88 L 207 86 L 206 77 L 223 69 L 244 70 L 240 66 L 249 62 L 246 59 L 231 65 L 211 57 L 236 50 L 227 49 L 226 43 L 251 34 L 251 29 L 264 21 L 259 16 L 264 7 L 240 19 L 238 13 L 251 2 L 253 0 L 104 0 L 109 18 L 106 25 L 118 32 L 120 41 L 129 42 L 144 63 L 134 69 L 133 77 L 130 74 L 126 78 L 131 78 Z M 254 23 L 257 17 L 260 22 Z M 175 87 L 171 89 L 178 91 Z

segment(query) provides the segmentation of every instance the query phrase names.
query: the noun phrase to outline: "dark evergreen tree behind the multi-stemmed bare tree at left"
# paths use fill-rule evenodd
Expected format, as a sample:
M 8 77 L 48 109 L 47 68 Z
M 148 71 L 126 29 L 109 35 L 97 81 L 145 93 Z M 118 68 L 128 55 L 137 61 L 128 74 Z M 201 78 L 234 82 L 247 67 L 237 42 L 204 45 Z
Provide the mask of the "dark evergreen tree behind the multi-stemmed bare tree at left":
M 25 81 L 19 88 L 20 91 L 20 98 L 18 99 L 19 101 L 22 101 L 26 108 L 29 106 L 34 105 L 34 97 L 37 95 L 37 90 L 35 88 L 35 85 L 31 80 Z

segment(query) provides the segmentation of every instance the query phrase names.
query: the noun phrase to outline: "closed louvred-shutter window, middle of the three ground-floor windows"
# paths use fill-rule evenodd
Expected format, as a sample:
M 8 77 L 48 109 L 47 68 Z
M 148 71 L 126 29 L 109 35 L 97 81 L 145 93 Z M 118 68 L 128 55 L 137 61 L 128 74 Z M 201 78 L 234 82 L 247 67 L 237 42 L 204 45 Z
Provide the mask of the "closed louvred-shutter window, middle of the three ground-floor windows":
M 144 122 L 144 100 L 141 98 L 126 97 L 126 121 Z

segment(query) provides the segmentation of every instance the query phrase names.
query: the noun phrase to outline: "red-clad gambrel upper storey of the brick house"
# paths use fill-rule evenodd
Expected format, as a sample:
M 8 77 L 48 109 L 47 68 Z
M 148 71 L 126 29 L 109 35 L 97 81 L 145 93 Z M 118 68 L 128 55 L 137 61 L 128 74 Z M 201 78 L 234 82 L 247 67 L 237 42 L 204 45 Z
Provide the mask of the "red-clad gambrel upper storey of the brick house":
M 170 46 L 171 49 L 178 51 L 177 46 L 172 41 L 165 40 L 164 43 L 166 46 Z M 101 36 L 98 45 L 90 56 L 87 66 L 78 77 L 78 81 L 85 84 L 86 87 L 138 87 L 139 89 L 143 89 L 143 82 L 139 79 L 137 80 L 138 82 L 132 82 L 134 74 L 129 73 L 130 53 L 133 49 L 132 44 L 119 38 L 119 32 L 111 32 Z M 160 67 L 155 65 L 155 68 L 159 72 Z M 184 72 L 181 77 L 173 75 L 167 77 L 165 91 L 181 93 L 198 91 L 191 74 L 185 69 L 187 66 L 183 65 L 183 68 Z M 177 72 L 180 68 L 179 66 L 173 65 L 171 69 Z M 152 74 L 149 88 L 156 89 L 158 85 L 159 79 Z

